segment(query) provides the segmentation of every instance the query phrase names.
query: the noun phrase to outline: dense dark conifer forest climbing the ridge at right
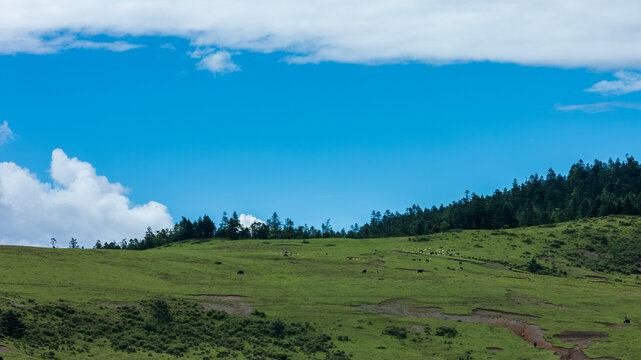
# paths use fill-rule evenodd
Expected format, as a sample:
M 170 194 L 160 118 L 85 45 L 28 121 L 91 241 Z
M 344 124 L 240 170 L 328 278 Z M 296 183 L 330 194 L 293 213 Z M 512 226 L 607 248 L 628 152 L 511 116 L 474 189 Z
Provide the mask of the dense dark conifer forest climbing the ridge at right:
M 550 169 L 532 175 L 510 189 L 492 195 L 469 194 L 447 206 L 404 213 L 372 212 L 369 223 L 352 232 L 355 237 L 431 234 L 449 229 L 500 229 L 532 226 L 612 214 L 641 214 L 641 166 L 625 161 L 572 165 L 567 176 Z

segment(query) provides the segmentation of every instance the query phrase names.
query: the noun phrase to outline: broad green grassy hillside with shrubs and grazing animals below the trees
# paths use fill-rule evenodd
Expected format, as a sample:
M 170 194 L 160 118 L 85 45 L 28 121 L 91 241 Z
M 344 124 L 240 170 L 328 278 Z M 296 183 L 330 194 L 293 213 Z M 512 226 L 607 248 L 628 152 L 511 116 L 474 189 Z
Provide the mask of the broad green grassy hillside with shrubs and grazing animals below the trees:
M 625 216 L 410 239 L 1 246 L 0 313 L 27 329 L 0 338 L 0 356 L 635 359 L 640 234 Z

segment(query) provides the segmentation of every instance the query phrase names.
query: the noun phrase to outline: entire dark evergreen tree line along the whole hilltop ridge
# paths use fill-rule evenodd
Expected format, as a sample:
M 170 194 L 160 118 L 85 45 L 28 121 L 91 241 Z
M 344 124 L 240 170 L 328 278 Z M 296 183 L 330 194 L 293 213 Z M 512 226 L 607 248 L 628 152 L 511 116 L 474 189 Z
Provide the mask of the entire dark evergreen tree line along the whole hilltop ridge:
M 321 237 L 391 237 L 426 235 L 450 229 L 502 229 L 542 225 L 612 214 L 641 215 L 641 165 L 633 157 L 625 161 L 572 165 L 567 176 L 548 170 L 532 175 L 510 189 L 492 195 L 470 194 L 440 207 L 409 207 L 404 213 L 373 211 L 363 226 L 334 231 L 329 219 L 320 228 L 295 226 L 274 213 L 266 222 L 243 226 L 239 216 L 223 213 L 218 226 L 204 215 L 196 221 L 183 217 L 172 229 L 147 229 L 141 240 L 96 243 L 96 248 L 144 250 L 187 239 L 308 239 Z

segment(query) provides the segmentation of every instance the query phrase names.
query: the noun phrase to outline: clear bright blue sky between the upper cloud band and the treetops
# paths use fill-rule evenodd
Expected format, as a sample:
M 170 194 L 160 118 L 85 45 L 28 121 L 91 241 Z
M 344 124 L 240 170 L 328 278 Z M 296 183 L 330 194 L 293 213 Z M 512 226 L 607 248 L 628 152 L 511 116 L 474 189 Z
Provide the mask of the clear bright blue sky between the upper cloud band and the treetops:
M 291 56 L 301 49 L 223 51 L 183 35 L 74 39 L 0 55 L 0 124 L 14 134 L 0 162 L 52 183 L 60 148 L 127 187 L 132 205 L 159 202 L 174 220 L 278 211 L 349 227 L 372 210 L 439 205 L 550 167 L 565 173 L 579 159 L 641 153 L 641 80 L 616 56 L 595 66 L 587 55 L 575 65 L 319 50 L 300 63 Z M 91 45 L 115 41 L 139 47 Z M 212 54 L 224 56 L 203 65 Z

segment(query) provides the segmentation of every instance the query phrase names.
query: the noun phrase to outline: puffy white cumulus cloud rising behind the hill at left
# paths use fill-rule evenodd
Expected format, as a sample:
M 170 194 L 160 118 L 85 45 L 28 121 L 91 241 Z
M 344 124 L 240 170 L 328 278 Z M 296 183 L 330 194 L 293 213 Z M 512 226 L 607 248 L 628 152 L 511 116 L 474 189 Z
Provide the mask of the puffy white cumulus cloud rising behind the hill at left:
M 166 206 L 132 205 L 121 184 L 61 149 L 52 153 L 50 174 L 53 183 L 41 182 L 13 162 L 0 163 L 0 244 L 45 245 L 55 237 L 64 246 L 75 237 L 92 246 L 172 226 Z

